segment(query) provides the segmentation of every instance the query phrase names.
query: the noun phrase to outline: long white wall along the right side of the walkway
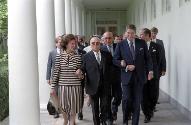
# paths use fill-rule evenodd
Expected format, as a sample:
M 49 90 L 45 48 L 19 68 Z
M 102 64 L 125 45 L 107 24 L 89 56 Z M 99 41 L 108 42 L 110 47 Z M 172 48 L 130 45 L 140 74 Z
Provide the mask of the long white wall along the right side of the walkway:
M 132 13 L 136 13 L 138 7 L 143 11 L 144 1 L 147 2 L 147 22 L 140 21 L 137 25 Z M 171 0 L 171 11 L 162 14 L 162 0 L 156 0 L 155 19 L 151 17 L 150 1 L 134 0 L 129 6 L 128 22 L 136 24 L 138 31 L 153 26 L 159 29 L 158 38 L 164 42 L 167 58 L 167 74 L 161 78 L 160 88 L 191 111 L 191 1 L 179 6 L 179 0 Z M 137 14 L 135 17 L 138 19 Z

